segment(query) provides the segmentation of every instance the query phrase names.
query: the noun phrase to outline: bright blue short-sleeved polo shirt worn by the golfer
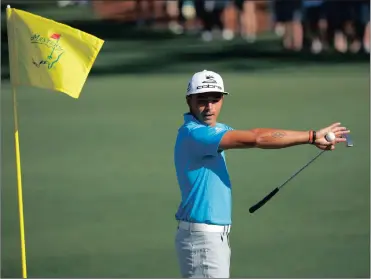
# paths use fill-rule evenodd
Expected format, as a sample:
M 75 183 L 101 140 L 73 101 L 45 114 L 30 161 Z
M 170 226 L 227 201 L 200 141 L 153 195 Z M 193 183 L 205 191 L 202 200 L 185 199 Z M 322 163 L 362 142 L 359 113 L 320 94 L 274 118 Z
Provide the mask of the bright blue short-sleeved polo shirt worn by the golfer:
M 191 114 L 184 114 L 178 130 L 174 162 L 181 192 L 177 220 L 215 225 L 231 224 L 232 195 L 224 151 L 223 135 L 231 127 L 211 127 Z

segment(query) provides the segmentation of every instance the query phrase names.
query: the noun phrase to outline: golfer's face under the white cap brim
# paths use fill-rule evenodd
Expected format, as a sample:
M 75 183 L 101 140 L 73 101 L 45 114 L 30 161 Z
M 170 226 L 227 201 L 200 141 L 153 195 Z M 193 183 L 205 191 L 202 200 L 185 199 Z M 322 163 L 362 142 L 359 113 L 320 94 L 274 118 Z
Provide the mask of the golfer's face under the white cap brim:
M 207 125 L 215 125 L 223 104 L 223 94 L 209 92 L 191 95 L 190 106 L 197 118 Z

